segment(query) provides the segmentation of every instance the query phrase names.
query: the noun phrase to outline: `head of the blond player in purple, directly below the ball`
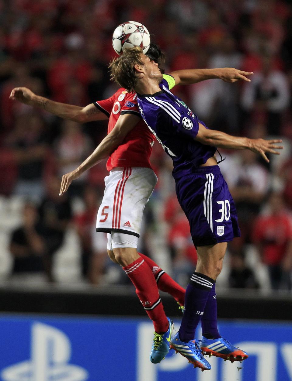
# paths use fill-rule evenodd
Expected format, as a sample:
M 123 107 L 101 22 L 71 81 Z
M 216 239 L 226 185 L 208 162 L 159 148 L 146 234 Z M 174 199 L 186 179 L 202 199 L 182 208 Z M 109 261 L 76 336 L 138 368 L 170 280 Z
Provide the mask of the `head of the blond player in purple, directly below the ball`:
M 125 49 L 122 56 L 115 58 L 109 65 L 111 79 L 129 92 L 135 92 L 139 81 L 145 78 L 162 80 L 157 62 L 150 61 L 140 47 Z

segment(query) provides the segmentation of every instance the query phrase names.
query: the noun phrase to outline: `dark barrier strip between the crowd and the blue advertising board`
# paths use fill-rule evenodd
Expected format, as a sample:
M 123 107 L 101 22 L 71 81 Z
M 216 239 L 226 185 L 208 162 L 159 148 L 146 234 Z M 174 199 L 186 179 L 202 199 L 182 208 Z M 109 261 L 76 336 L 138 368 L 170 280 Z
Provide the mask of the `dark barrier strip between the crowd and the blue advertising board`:
M 282 293 L 284 294 L 284 293 Z M 261 295 L 248 290 L 218 290 L 221 319 L 292 320 L 292 296 Z M 176 302 L 161 293 L 169 316 L 181 316 Z M 143 316 L 143 308 L 132 286 L 88 287 L 2 287 L 0 312 Z

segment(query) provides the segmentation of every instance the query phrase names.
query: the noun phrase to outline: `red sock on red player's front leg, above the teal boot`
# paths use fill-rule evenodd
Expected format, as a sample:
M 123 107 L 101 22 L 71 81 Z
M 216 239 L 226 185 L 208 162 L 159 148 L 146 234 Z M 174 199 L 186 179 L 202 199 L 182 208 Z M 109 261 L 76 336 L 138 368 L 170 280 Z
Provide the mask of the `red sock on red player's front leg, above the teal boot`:
M 149 318 L 153 321 L 155 332 L 166 332 L 169 324 L 160 300 L 157 284 L 152 271 L 143 258 L 138 258 L 123 270 L 136 287 L 140 299 Z

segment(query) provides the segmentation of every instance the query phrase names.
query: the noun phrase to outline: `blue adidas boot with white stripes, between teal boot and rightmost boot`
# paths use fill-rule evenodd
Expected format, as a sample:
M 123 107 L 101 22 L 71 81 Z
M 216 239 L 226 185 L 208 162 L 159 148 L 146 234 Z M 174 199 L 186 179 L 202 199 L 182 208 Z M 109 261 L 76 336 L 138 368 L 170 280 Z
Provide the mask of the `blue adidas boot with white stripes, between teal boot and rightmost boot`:
M 211 369 L 211 365 L 204 359 L 201 348 L 196 340 L 190 340 L 188 343 L 180 341 L 180 336 L 177 332 L 170 340 L 170 348 L 174 349 L 176 353 L 183 355 L 194 365 L 194 368 L 201 368 L 202 371 Z

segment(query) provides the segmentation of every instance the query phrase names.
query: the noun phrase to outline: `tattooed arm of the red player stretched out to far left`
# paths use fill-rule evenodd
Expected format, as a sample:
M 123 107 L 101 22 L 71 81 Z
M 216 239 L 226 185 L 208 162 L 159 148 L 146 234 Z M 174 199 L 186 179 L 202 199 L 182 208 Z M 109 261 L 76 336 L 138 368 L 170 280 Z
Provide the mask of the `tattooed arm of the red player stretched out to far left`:
M 42 109 L 63 119 L 74 120 L 77 123 L 92 122 L 93 120 L 107 119 L 107 116 L 97 109 L 94 104 L 86 107 L 74 106 L 36 95 L 26 87 L 16 87 L 10 93 L 10 99 L 19 101 L 29 106 L 41 107 Z

